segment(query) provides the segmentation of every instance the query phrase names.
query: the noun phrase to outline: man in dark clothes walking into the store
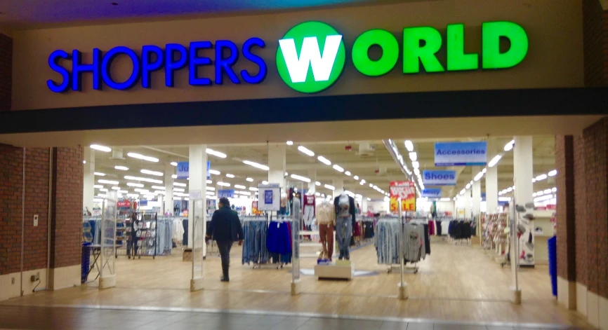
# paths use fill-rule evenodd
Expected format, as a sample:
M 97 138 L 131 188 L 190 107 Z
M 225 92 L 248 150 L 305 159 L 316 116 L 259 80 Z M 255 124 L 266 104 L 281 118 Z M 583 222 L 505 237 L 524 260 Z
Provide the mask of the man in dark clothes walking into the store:
M 239 245 L 243 244 L 243 227 L 237 212 L 230 209 L 230 200 L 228 198 L 220 198 L 218 203 L 219 208 L 213 212 L 211 224 L 207 229 L 207 237 L 209 240 L 213 238 L 218 243 L 220 256 L 222 258 L 222 282 L 230 282 L 228 276 L 228 267 L 230 266 L 230 248 L 232 242 L 239 241 Z

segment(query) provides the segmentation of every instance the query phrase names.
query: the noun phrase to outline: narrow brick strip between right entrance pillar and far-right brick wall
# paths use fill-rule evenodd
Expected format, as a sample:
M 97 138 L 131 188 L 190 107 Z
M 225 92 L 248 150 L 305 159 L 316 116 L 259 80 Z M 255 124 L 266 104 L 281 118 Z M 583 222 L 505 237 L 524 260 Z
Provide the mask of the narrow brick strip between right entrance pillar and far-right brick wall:
M 574 137 L 574 219 L 576 219 L 576 282 L 587 285 L 587 184 L 585 179 L 585 140 Z

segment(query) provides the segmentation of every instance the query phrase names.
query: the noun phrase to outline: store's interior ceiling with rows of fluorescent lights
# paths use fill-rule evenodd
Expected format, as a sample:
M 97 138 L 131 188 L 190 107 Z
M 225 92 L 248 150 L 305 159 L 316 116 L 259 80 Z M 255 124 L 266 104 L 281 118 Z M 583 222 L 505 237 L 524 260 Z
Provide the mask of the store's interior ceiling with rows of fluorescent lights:
M 414 151 L 417 153 L 417 160 L 420 164 L 420 170 L 438 169 L 434 165 L 434 144 L 435 142 L 448 141 L 479 141 L 483 138 L 470 139 L 414 139 Z M 407 160 L 407 166 L 412 169 L 409 153 L 404 146 L 404 140 L 395 140 L 399 152 L 402 153 Z M 503 146 L 510 142 L 510 138 L 499 138 L 498 148 L 503 150 Z M 534 137 L 534 176 L 547 174 L 555 169 L 555 146 L 554 137 Z M 286 172 L 289 173 L 287 180 L 291 184 L 302 184 L 304 188 L 308 184 L 293 179 L 291 174 L 296 174 L 301 177 L 307 177 L 322 183 L 322 186 L 317 187 L 319 193 L 331 193 L 329 189 L 324 188 L 325 184 L 333 184 L 333 179 L 343 179 L 344 188 L 358 193 L 367 198 L 383 198 L 383 195 L 369 187 L 373 184 L 388 192 L 390 181 L 404 180 L 406 177 L 399 169 L 395 160 L 392 159 L 390 153 L 385 148 L 382 141 L 345 141 L 345 142 L 319 142 L 319 143 L 303 143 L 302 146 L 310 149 L 315 153 L 314 157 L 307 156 L 305 153 L 298 151 L 298 142 L 293 142 L 293 145 L 287 146 L 286 151 Z M 349 148 L 350 147 L 350 148 Z M 130 175 L 133 177 L 150 177 L 141 173 L 141 170 L 152 170 L 156 172 L 164 172 L 169 168 L 172 174 L 175 174 L 176 167 L 170 164 L 171 162 L 187 161 L 188 146 L 111 146 L 114 151 L 105 153 L 95 151 L 95 172 L 106 174 L 105 177 L 95 177 L 97 184 L 98 179 L 114 179 L 120 182 L 121 188 L 126 188 L 124 176 Z M 249 187 L 256 187 L 262 181 L 267 180 L 267 171 L 259 170 L 256 167 L 242 163 L 242 160 L 251 160 L 263 165 L 268 164 L 268 152 L 266 144 L 216 144 L 209 145 L 209 149 L 224 153 L 226 158 L 220 158 L 213 155 L 208 155 L 211 161 L 211 169 L 217 170 L 221 174 L 212 174 L 211 180 L 217 188 L 218 181 L 230 183 L 232 187 L 235 184 Z M 122 154 L 120 157 L 119 154 Z M 139 153 L 145 156 L 158 158 L 158 163 L 152 163 L 146 160 L 140 160 L 127 156 L 128 153 Z M 317 156 L 324 156 L 331 161 L 332 166 L 338 164 L 345 171 L 350 171 L 350 176 L 345 172 L 341 173 L 333 169 L 332 166 L 325 165 L 317 160 Z M 128 170 L 117 170 L 115 166 L 128 167 Z M 505 152 L 503 158 L 498 162 L 498 190 L 501 191 L 510 186 L 513 186 L 513 151 Z M 442 169 L 445 169 L 442 167 Z M 477 174 L 473 173 L 472 167 L 453 167 L 458 175 L 458 183 L 456 186 L 444 186 L 442 188 L 443 197 L 454 197 L 466 186 L 472 177 Z M 227 177 L 226 174 L 234 175 L 234 178 Z M 355 176 L 358 179 L 355 179 Z M 253 181 L 247 181 L 247 178 Z M 164 181 L 164 177 L 154 177 Z M 361 179 L 366 181 L 365 184 L 360 184 Z M 555 177 L 549 177 L 543 181 L 538 181 L 534 184 L 534 190 L 540 191 L 555 186 Z M 177 182 L 187 184 L 187 180 L 177 180 Z M 484 191 L 484 179 L 482 182 L 482 191 Z M 145 182 L 143 183 L 145 184 Z M 152 184 L 147 184 L 152 186 Z M 161 184 L 154 184 L 159 186 Z M 146 186 L 145 188 L 150 188 Z M 152 190 L 152 189 L 150 189 Z M 247 189 L 245 189 L 247 190 Z M 132 193 L 132 191 L 130 191 Z M 98 193 L 98 191 L 95 191 Z M 505 194 L 509 196 L 510 194 Z

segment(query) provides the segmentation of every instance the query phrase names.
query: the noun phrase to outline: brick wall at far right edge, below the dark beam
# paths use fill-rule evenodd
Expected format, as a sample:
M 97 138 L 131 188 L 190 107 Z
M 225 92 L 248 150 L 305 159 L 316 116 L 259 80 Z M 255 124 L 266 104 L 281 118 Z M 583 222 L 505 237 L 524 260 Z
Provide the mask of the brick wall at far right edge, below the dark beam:
M 608 298 L 608 118 L 583 131 L 587 223 L 587 285 Z

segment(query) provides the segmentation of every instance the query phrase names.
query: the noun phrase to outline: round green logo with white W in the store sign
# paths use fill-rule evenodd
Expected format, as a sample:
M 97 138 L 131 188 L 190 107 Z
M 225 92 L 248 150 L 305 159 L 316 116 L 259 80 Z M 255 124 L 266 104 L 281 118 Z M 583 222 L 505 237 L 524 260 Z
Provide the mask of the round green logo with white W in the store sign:
M 344 41 L 336 29 L 323 22 L 303 22 L 279 40 L 277 69 L 294 90 L 321 92 L 338 80 L 345 58 Z

